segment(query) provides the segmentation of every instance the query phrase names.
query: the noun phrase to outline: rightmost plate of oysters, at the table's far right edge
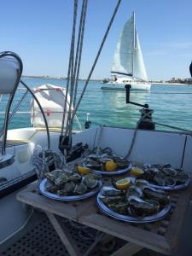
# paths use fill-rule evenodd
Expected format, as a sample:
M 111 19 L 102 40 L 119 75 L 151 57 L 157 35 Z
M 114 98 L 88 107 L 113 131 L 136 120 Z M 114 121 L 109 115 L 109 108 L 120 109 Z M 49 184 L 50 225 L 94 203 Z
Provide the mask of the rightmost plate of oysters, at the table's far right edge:
M 139 168 L 143 170 L 143 174 L 140 177 L 147 180 L 156 189 L 184 189 L 189 186 L 191 181 L 188 172 L 173 168 L 170 164 L 143 165 Z

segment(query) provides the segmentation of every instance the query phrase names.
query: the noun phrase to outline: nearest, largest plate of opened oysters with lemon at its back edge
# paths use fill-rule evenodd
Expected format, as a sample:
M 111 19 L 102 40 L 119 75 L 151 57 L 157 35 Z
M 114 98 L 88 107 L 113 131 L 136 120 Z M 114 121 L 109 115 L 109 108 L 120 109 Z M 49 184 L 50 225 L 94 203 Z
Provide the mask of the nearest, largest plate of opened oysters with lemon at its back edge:
M 110 217 L 132 223 L 148 223 L 164 218 L 171 209 L 166 191 L 154 189 L 142 179 L 126 177 L 116 186 L 103 186 L 97 206 Z

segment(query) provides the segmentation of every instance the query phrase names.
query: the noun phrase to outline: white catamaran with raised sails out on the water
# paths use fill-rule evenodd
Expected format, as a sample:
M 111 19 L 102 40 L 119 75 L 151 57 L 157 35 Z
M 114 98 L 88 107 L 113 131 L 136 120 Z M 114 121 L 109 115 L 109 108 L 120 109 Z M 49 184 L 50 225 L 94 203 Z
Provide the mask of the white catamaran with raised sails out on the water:
M 148 84 L 134 12 L 120 35 L 111 73 L 110 81 L 103 80 L 102 90 L 125 90 L 125 84 L 131 84 L 131 90 L 150 90 L 151 84 Z

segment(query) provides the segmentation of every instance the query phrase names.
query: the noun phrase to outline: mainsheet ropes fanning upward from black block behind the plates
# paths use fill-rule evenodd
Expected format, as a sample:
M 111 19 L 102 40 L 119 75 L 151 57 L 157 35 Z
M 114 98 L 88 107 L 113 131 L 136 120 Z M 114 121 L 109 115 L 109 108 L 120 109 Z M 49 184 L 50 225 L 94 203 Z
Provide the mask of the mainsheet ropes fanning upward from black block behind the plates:
M 66 154 L 66 152 L 64 153 L 64 151 L 68 152 L 71 149 L 74 116 L 77 113 L 80 102 L 84 96 L 84 92 L 87 88 L 87 85 L 90 82 L 90 77 L 96 67 L 96 62 L 98 61 L 98 58 L 102 52 L 102 47 L 106 41 L 106 38 L 108 37 L 108 32 L 113 24 L 113 20 L 114 20 L 115 15 L 117 14 L 120 3 L 121 3 L 121 0 L 118 0 L 116 7 L 113 11 L 113 15 L 109 21 L 108 28 L 104 34 L 104 37 L 102 38 L 102 43 L 101 43 L 101 45 L 98 49 L 98 52 L 96 54 L 95 61 L 93 62 L 93 65 L 90 69 L 88 78 L 85 81 L 82 93 L 79 96 L 79 101 L 76 104 L 76 96 L 77 96 L 77 88 L 78 88 L 78 80 L 79 80 L 79 68 L 80 68 L 81 55 L 82 55 L 82 49 L 83 49 L 84 25 L 85 25 L 85 16 L 86 16 L 86 11 L 87 11 L 88 0 L 84 0 L 82 3 L 81 19 L 80 19 L 80 23 L 79 23 L 79 38 L 78 38 L 78 44 L 77 44 L 77 49 L 76 49 L 75 62 L 74 62 L 74 43 L 75 43 L 75 29 L 76 29 L 77 12 L 78 12 L 78 0 L 74 0 L 73 32 L 72 32 L 71 48 L 70 48 L 70 55 L 69 55 L 69 64 L 68 64 L 68 73 L 67 73 L 67 90 L 66 90 L 66 95 L 68 96 L 68 91 L 70 89 L 70 106 L 69 106 L 69 113 L 68 113 L 67 122 L 66 122 L 65 113 L 66 113 L 67 103 L 65 102 L 63 118 L 62 118 L 62 125 L 61 125 L 61 136 L 60 136 L 60 142 L 59 142 L 59 148 L 63 154 Z M 73 65 L 74 65 L 74 67 L 73 67 Z M 74 104 L 73 111 L 72 111 L 72 108 L 73 108 L 72 103 Z M 66 122 L 66 130 L 65 130 L 65 135 L 63 135 L 65 122 Z

